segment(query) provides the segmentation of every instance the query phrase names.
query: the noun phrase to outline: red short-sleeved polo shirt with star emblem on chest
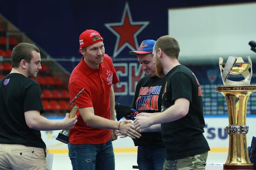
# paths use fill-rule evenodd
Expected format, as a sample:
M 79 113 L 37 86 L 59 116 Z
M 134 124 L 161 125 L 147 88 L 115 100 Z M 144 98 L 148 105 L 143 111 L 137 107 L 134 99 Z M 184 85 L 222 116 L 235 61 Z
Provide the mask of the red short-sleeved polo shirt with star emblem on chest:
M 74 68 L 68 82 L 70 99 L 85 88 L 74 102 L 79 108 L 93 107 L 94 114 L 102 118 L 110 118 L 110 88 L 119 82 L 111 58 L 105 54 L 99 69 L 90 68 L 83 60 Z M 110 137 L 110 130 L 88 126 L 79 111 L 76 113 L 77 123 L 70 130 L 71 144 L 103 144 Z

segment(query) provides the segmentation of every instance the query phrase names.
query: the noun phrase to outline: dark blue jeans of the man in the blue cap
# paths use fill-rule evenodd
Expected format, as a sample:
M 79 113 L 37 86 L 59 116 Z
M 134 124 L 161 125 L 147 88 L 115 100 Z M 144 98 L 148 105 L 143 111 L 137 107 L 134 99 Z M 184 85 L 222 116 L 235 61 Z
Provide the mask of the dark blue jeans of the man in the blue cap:
M 162 170 L 166 156 L 165 148 L 138 146 L 137 163 L 140 170 Z

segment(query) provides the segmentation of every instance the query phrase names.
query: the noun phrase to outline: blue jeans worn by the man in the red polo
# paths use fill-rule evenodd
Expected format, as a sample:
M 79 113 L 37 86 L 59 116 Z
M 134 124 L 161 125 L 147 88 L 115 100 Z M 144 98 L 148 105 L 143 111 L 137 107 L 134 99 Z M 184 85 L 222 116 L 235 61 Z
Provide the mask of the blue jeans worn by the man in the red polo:
M 115 170 L 111 139 L 105 144 L 70 144 L 68 156 L 73 170 Z

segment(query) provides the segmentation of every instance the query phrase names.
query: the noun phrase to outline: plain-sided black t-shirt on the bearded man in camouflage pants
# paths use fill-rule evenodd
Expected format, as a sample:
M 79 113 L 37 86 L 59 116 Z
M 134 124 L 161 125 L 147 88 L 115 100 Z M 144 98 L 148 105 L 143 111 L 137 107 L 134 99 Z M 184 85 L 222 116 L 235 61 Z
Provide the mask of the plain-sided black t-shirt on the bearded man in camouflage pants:
M 167 160 L 176 160 L 204 153 L 209 145 L 203 136 L 205 125 L 202 92 L 195 74 L 184 65 L 177 65 L 166 75 L 163 110 L 178 98 L 190 101 L 188 114 L 173 122 L 162 124 L 162 139 L 167 148 Z

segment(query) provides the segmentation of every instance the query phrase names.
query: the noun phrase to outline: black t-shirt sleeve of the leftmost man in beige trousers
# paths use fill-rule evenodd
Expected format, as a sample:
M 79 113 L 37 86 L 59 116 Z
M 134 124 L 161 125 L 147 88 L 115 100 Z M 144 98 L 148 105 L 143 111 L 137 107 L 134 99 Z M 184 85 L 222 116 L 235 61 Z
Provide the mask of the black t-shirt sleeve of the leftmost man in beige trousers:
M 40 110 L 40 114 L 44 112 L 41 100 L 40 85 L 29 85 L 24 96 L 24 112 Z

